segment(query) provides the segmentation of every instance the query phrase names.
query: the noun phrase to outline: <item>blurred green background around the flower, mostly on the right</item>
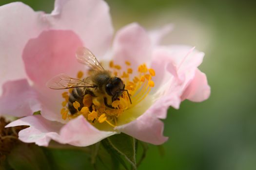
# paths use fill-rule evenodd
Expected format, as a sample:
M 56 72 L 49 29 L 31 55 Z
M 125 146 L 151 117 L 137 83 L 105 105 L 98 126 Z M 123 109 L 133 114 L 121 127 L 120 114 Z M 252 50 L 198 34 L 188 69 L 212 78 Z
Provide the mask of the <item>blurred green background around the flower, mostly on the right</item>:
M 13 0 L 1 0 L 0 5 Z M 53 0 L 21 0 L 50 12 Z M 138 22 L 175 25 L 164 44 L 205 52 L 200 69 L 212 91 L 201 103 L 170 108 L 165 154 L 150 145 L 139 170 L 256 170 L 256 4 L 241 0 L 107 0 L 115 30 Z M 56 151 L 62 169 L 83 168 L 82 152 Z M 79 158 L 75 158 L 77 155 Z M 77 160 L 77 161 L 76 161 Z M 73 162 L 73 164 L 72 164 Z M 75 163 L 74 163 L 75 162 Z M 87 167 L 87 169 L 90 169 Z

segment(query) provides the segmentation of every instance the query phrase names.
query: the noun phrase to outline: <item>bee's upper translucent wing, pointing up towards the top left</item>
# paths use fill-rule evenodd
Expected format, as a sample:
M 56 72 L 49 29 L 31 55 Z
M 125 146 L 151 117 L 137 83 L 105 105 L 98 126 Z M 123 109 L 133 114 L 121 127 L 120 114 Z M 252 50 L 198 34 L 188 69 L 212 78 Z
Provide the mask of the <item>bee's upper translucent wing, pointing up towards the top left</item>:
M 76 52 L 77 60 L 93 70 L 104 70 L 94 54 L 85 47 L 80 47 Z

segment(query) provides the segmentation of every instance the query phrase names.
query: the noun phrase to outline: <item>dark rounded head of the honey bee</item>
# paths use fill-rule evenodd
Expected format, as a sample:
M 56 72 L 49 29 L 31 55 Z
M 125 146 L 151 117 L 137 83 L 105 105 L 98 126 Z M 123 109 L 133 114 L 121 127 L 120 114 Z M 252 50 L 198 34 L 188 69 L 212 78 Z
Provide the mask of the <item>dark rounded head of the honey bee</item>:
M 122 95 L 124 88 L 123 81 L 118 77 L 113 77 L 106 84 L 106 92 L 109 96 L 118 98 Z

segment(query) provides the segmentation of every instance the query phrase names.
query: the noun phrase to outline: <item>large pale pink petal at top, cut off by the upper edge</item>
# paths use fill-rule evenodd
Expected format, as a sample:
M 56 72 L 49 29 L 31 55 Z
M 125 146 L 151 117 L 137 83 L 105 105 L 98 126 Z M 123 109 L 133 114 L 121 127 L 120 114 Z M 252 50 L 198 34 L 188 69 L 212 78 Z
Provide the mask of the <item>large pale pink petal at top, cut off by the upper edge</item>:
M 72 30 L 98 58 L 109 48 L 113 27 L 103 0 L 57 0 L 52 15 L 45 16 L 52 29 Z

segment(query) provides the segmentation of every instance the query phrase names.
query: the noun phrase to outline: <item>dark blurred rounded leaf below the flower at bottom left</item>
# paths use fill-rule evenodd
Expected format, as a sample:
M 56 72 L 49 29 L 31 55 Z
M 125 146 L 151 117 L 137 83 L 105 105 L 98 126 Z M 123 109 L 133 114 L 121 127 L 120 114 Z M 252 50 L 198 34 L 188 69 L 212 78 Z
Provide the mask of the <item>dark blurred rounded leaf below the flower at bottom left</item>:
M 14 170 L 49 170 L 46 156 L 35 144 L 20 143 L 7 156 L 9 165 Z

